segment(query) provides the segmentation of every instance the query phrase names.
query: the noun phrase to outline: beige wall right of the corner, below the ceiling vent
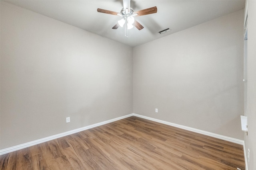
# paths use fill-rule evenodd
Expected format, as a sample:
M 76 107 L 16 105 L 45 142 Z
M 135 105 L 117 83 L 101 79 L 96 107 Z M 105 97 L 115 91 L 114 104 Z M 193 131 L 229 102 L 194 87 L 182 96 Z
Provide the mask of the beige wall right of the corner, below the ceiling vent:
M 134 47 L 134 113 L 243 139 L 243 21 L 240 10 Z

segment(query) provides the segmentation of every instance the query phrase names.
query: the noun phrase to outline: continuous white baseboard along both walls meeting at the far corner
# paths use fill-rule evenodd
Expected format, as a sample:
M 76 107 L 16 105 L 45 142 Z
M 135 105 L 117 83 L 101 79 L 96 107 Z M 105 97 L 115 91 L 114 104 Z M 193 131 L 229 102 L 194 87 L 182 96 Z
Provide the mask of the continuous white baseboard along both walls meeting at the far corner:
M 151 118 L 151 117 L 147 117 L 147 116 L 132 113 L 132 114 L 129 114 L 129 115 L 117 117 L 115 119 L 110 119 L 108 121 L 103 121 L 103 122 L 96 123 L 96 124 L 93 124 L 93 125 L 89 125 L 89 126 L 86 126 L 86 127 L 82 127 L 82 128 L 79 128 L 79 129 L 74 129 L 72 131 L 67 131 L 67 132 L 60 133 L 60 134 L 57 134 L 57 135 L 53 135 L 53 136 L 50 136 L 50 137 L 45 137 L 45 138 L 42 138 L 42 139 L 38 139 L 36 141 L 31 141 L 31 142 L 24 143 L 24 144 L 21 144 L 21 145 L 17 145 L 17 146 L 14 146 L 14 147 L 2 149 L 2 150 L 0 150 L 0 155 L 6 154 L 6 153 L 9 153 L 9 152 L 13 152 L 13 151 L 16 151 L 16 150 L 19 150 L 19 149 L 24 149 L 24 148 L 27 148 L 27 147 L 31 147 L 33 145 L 37 145 L 37 144 L 44 143 L 44 142 L 47 142 L 47 141 L 50 141 L 50 140 L 53 140 L 53 139 L 57 139 L 57 138 L 60 138 L 60 137 L 71 135 L 73 133 L 77 133 L 77 132 L 80 132 L 80 131 L 91 129 L 93 127 L 97 127 L 97 126 L 100 126 L 100 125 L 111 123 L 113 121 L 124 119 L 124 118 L 130 117 L 130 116 L 141 117 L 143 119 L 148 119 L 148 120 L 155 121 L 155 122 L 158 122 L 158 123 L 163 123 L 163 124 L 166 124 L 166 125 L 178 127 L 180 129 L 185 129 L 185 130 L 188 130 L 188 131 L 193 131 L 193 132 L 200 133 L 200 134 L 203 134 L 203 135 L 207 135 L 207 136 L 215 137 L 215 138 L 218 138 L 218 139 L 223 139 L 225 141 L 230 141 L 230 142 L 233 142 L 233 143 L 244 145 L 244 141 L 239 140 L 239 139 L 234 139 L 234 138 L 231 138 L 231 137 L 226 137 L 226 136 L 218 135 L 218 134 L 215 134 L 215 133 L 210 133 L 210 132 L 207 132 L 207 131 L 202 131 L 202 130 L 199 130 L 199 129 L 194 129 L 194 128 L 191 128 L 191 127 L 186 127 L 186 126 L 183 126 L 183 125 L 170 123 L 168 121 L 162 121 L 162 120 L 159 120 L 159 119 L 154 119 L 154 118 Z

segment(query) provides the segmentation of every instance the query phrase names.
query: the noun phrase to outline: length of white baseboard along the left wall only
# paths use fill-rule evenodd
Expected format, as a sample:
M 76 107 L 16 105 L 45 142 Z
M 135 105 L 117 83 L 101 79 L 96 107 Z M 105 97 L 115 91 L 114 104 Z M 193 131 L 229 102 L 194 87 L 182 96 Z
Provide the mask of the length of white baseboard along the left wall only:
M 10 152 L 13 152 L 13 151 L 16 151 L 16 150 L 24 149 L 24 148 L 27 148 L 27 147 L 31 147 L 33 145 L 37 145 L 37 144 L 44 143 L 44 142 L 47 142 L 47 141 L 50 141 L 50 140 L 53 140 L 53 139 L 57 139 L 57 138 L 60 138 L 60 137 L 71 135 L 73 133 L 77 133 L 77 132 L 80 132 L 80 131 L 91 129 L 93 127 L 97 127 L 97 126 L 100 126 L 100 125 L 111 123 L 113 121 L 124 119 L 124 118 L 130 117 L 130 116 L 133 116 L 133 114 L 117 117 L 115 119 L 110 119 L 110 120 L 103 121 L 103 122 L 100 122 L 100 123 L 95 123 L 93 125 L 89 125 L 89 126 L 86 126 L 86 127 L 81 127 L 81 128 L 78 128 L 78 129 L 74 129 L 72 131 L 67 131 L 67 132 L 60 133 L 60 134 L 57 134 L 57 135 L 53 135 L 53 136 L 50 136 L 50 137 L 45 137 L 45 138 L 42 138 L 42 139 L 38 139 L 36 141 L 31 141 L 31 142 L 24 143 L 24 144 L 21 144 L 21 145 L 17 145 L 17 146 L 14 146 L 14 147 L 2 149 L 2 150 L 0 150 L 0 155 L 10 153 Z

